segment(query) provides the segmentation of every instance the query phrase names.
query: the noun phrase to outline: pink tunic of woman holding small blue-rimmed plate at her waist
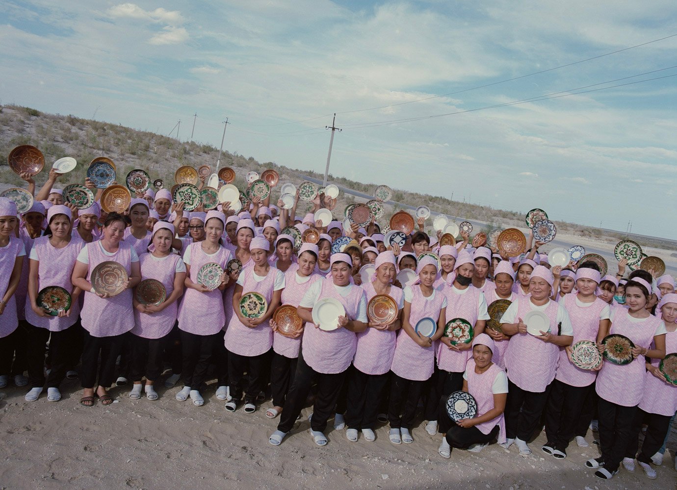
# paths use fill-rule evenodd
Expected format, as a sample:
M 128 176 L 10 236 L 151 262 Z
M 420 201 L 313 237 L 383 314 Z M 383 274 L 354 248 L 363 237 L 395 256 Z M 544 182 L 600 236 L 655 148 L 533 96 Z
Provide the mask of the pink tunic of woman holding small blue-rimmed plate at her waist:
M 437 322 L 444 303 L 444 295 L 435 291 L 433 299 L 427 299 L 421 293 L 420 285 L 412 288 L 412 306 L 409 312 L 409 324 L 416 329 L 422 318 L 430 317 Z M 411 381 L 427 381 L 433 375 L 435 366 L 435 347 L 421 347 L 404 328 L 400 328 L 395 343 L 395 356 L 391 371 L 400 378 Z

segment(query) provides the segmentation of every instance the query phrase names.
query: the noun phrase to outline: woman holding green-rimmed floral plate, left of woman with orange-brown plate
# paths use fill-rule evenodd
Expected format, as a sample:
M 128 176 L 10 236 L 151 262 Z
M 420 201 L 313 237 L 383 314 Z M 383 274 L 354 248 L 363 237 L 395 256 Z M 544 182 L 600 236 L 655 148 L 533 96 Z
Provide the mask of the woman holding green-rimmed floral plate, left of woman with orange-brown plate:
M 244 391 L 244 412 L 251 414 L 256 410 L 257 397 L 265 386 L 270 369 L 273 330 L 269 319 L 280 304 L 284 273 L 268 264 L 270 243 L 265 237 L 255 237 L 249 249 L 253 266 L 245 267 L 240 272 L 233 293 L 232 308 L 235 314 L 225 330 L 223 341 L 228 351 L 228 381 L 232 396 L 225 403 L 225 410 L 234 412 Z M 242 314 L 240 299 L 247 293 L 259 293 L 265 299 L 267 309 L 261 316 L 247 317 Z

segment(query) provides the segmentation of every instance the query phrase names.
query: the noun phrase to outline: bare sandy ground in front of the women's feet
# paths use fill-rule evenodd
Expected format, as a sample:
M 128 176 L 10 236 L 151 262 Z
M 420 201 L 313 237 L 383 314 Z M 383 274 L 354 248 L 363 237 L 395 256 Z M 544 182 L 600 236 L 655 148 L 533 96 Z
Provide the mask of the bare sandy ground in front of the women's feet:
M 161 383 L 160 383 L 161 385 Z M 584 462 L 598 456 L 594 445 L 572 443 L 566 460 L 540 451 L 521 457 L 512 447 L 490 445 L 481 454 L 454 450 L 451 460 L 437 454 L 439 438 L 423 424 L 414 428 L 414 443 L 395 446 L 387 427 L 379 426 L 376 441 L 357 443 L 330 425 L 329 444 L 316 446 L 304 417 L 281 446 L 267 438 L 278 422 L 265 418 L 263 403 L 253 415 L 240 409 L 225 412 L 214 396 L 213 382 L 206 403 L 195 407 L 179 402 L 179 387 L 158 389 L 160 399 L 133 401 L 128 389 L 114 388 L 119 400 L 108 407 L 80 406 L 79 383 L 64 381 L 64 397 L 24 401 L 26 389 L 3 390 L 0 400 L 2 489 L 283 489 L 362 487 L 368 489 L 437 489 L 463 485 L 473 489 L 651 489 L 673 488 L 674 460 L 667 455 L 657 468 L 658 479 L 647 479 L 638 468 L 621 470 L 609 482 L 593 476 Z M 307 416 L 310 409 L 305 409 Z M 588 433 L 588 441 L 592 437 Z M 672 448 L 677 437 L 673 430 Z M 669 446 L 670 447 L 670 446 Z

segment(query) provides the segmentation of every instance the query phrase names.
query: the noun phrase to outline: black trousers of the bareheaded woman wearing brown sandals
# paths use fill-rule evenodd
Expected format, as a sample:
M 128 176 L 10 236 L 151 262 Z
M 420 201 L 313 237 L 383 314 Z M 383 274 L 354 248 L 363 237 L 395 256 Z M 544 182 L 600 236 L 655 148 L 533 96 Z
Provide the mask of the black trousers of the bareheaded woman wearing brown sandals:
M 113 384 L 115 376 L 115 360 L 120 354 L 125 334 L 112 337 L 93 337 L 85 330 L 85 347 L 83 348 L 83 369 L 80 373 L 80 385 L 93 388 L 99 378 L 99 386 L 108 388 Z M 101 365 L 99 362 L 101 353 Z M 97 369 L 98 367 L 98 369 Z

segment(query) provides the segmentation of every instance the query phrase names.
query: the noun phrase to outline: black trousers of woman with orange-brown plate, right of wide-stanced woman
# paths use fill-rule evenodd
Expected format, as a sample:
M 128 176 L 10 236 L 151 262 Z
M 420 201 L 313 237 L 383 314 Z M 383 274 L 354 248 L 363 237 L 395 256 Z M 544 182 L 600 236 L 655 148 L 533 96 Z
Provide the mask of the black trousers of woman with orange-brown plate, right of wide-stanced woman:
M 347 410 L 345 422 L 348 428 L 373 430 L 378 416 L 381 394 L 390 381 L 390 373 L 365 374 L 351 366 L 348 374 Z

